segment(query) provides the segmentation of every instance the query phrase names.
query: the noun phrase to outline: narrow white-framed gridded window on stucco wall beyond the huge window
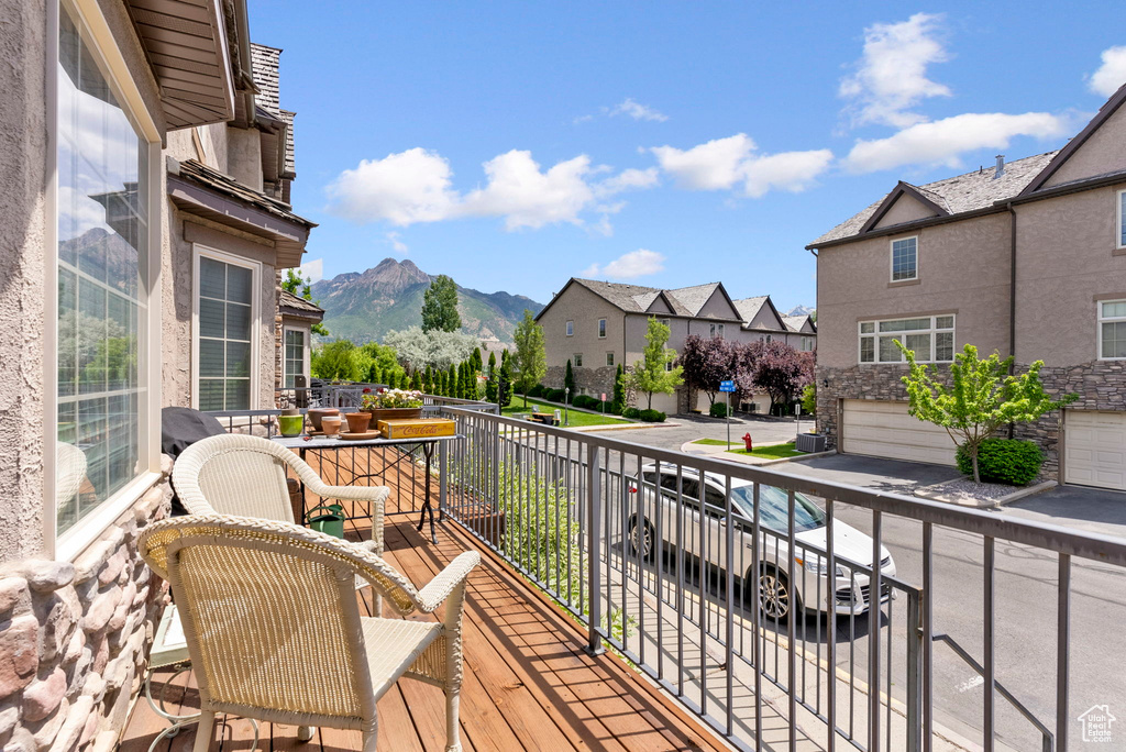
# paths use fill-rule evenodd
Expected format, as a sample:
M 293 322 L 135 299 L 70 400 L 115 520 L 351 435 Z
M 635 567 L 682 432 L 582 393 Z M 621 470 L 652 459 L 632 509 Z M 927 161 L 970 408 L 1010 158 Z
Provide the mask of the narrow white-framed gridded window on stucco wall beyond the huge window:
M 196 404 L 250 410 L 258 266 L 209 249 L 196 253 Z

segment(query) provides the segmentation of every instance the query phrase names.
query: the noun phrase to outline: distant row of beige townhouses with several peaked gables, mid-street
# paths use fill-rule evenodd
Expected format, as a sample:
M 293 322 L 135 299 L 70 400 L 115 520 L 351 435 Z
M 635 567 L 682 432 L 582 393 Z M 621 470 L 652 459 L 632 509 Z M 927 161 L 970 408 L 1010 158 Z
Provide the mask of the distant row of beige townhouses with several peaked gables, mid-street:
M 815 346 L 812 322 L 794 321 L 796 329 L 790 329 L 769 296 L 733 301 L 722 283 L 659 289 L 571 278 L 536 316 L 544 328 L 547 350 L 544 383 L 562 386 L 566 361 L 571 360 L 580 394 L 609 397 L 617 366 L 642 358 L 653 316 L 669 326 L 668 347 L 678 352 L 689 334 L 735 342 L 781 341 L 797 349 L 806 344 L 808 350 Z M 697 409 L 700 400 L 706 409 L 707 397 L 698 396 L 697 404 L 689 405 L 688 394 L 680 390 L 676 395 L 654 395 L 653 408 L 667 413 L 688 412 Z M 756 395 L 747 408 L 766 411 L 769 404 L 769 397 Z

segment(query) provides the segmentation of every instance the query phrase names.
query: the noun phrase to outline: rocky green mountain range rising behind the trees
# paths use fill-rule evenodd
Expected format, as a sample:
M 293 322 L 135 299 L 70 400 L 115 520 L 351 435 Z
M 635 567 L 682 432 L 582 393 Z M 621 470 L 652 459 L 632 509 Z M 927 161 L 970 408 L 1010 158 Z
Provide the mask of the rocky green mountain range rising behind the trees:
M 322 279 L 313 285 L 312 293 L 324 308 L 324 325 L 332 339 L 372 342 L 390 331 L 422 324 L 422 294 L 431 279 L 413 261 L 384 259 L 367 271 Z M 543 307 L 524 295 L 457 287 L 462 331 L 482 340 L 511 342 L 524 310 L 537 314 Z

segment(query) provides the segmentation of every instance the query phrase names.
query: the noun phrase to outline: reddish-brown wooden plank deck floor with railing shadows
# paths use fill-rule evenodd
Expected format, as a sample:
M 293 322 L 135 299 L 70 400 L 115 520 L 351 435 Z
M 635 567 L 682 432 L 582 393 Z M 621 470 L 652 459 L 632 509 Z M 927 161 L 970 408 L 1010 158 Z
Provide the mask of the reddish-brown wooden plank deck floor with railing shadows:
M 359 453 L 357 457 L 356 466 L 350 469 L 358 473 L 379 469 L 367 467 Z M 328 482 L 337 480 L 334 468 L 323 469 Z M 425 483 L 422 474 L 409 464 L 391 468 L 385 482 L 400 491 L 393 492 L 388 511 L 397 511 L 396 498 L 417 496 L 404 493 L 405 489 L 418 489 Z M 414 529 L 417 519 L 394 517 L 385 530 L 387 559 L 417 585 L 429 582 L 461 552 L 480 548 L 449 521 L 438 526 L 435 545 Z M 356 535 L 354 526 L 349 537 Z M 360 598 L 369 601 L 370 589 L 360 591 Z M 461 724 L 466 752 L 727 749 L 617 657 L 588 656 L 583 652 L 586 635 L 575 623 L 488 550 L 482 552 L 482 564 L 470 578 L 465 625 Z M 167 690 L 170 707 L 182 708 L 185 714 L 198 708 L 191 675 L 180 674 L 175 681 L 169 681 L 170 677 L 170 671 L 154 675 L 153 695 Z M 379 749 L 443 750 L 444 717 L 439 689 L 401 680 L 379 702 Z M 302 744 L 293 726 L 261 726 L 256 746 L 249 720 L 226 718 L 216 725 L 212 749 L 310 752 L 360 749 L 358 732 L 321 728 L 311 743 Z M 164 727 L 166 723 L 140 699 L 120 749 L 145 752 Z M 194 741 L 193 726 L 162 741 L 158 749 L 189 751 Z

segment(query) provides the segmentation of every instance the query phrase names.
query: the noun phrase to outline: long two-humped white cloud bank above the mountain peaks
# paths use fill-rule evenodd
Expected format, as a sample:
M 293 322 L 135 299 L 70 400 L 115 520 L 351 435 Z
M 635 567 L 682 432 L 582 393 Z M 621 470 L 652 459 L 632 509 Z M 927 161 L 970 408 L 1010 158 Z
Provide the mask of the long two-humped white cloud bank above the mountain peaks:
M 328 193 L 336 214 L 360 223 L 408 226 L 458 217 L 503 217 L 508 230 L 518 230 L 561 222 L 583 224 L 583 213 L 606 213 L 597 208 L 599 199 L 658 182 L 656 168 L 628 169 L 600 179 L 613 170 L 592 167 L 586 154 L 544 170 L 531 152 L 512 150 L 482 167 L 484 187 L 461 193 L 453 186 L 446 159 L 415 147 L 382 160 L 363 160 L 341 172 Z M 388 240 L 396 251 L 406 251 L 397 235 L 388 234 Z

